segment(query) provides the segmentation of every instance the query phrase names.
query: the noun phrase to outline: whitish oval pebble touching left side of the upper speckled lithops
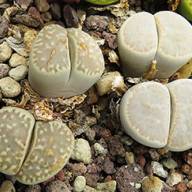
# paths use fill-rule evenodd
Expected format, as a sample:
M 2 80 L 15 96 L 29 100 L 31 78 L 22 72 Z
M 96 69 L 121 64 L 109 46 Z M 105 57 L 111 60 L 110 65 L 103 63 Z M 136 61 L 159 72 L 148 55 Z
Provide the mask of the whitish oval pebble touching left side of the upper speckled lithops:
M 20 81 L 26 77 L 28 73 L 28 67 L 26 65 L 19 65 L 9 71 L 9 76 Z

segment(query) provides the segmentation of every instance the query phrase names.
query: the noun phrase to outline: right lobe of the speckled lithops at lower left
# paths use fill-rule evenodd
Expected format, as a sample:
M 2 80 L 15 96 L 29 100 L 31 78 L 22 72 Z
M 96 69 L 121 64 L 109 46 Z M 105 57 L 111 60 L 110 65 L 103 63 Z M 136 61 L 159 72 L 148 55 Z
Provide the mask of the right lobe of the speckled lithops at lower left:
M 73 146 L 73 134 L 61 121 L 37 122 L 31 149 L 16 178 L 24 184 L 47 180 L 67 163 Z

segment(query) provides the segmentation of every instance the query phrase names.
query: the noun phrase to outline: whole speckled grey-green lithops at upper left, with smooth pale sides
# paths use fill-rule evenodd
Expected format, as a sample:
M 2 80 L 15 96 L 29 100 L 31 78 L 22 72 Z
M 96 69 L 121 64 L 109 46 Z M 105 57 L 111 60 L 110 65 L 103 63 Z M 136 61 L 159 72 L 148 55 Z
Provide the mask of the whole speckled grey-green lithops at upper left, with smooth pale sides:
M 70 97 L 87 91 L 104 71 L 96 41 L 80 29 L 51 24 L 35 39 L 29 63 L 32 88 L 46 97 Z

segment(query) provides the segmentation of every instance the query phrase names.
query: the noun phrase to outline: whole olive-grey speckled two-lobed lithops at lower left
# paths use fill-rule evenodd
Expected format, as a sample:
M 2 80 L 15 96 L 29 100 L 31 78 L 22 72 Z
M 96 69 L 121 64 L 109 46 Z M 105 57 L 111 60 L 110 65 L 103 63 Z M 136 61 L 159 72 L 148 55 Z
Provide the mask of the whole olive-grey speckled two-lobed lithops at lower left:
M 0 109 L 0 171 L 24 184 L 54 176 L 67 163 L 74 146 L 70 129 L 60 120 L 35 122 L 30 112 Z

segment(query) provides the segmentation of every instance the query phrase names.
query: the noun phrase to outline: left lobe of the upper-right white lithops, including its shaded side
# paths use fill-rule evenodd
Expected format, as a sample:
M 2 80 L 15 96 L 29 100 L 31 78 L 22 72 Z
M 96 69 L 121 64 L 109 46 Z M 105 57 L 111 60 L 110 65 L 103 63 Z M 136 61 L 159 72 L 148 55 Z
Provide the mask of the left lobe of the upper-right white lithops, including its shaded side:
M 118 33 L 123 73 L 127 76 L 143 75 L 154 59 L 157 45 L 157 29 L 152 14 L 141 12 L 127 19 Z

